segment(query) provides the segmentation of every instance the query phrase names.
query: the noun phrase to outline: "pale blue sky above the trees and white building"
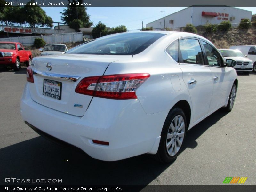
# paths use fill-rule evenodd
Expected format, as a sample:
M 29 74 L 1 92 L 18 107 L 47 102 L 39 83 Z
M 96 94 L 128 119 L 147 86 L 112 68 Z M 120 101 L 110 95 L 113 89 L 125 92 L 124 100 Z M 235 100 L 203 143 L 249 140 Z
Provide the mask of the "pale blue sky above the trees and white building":
M 60 12 L 65 7 L 42 7 L 54 22 L 62 22 Z M 186 7 L 87 7 L 87 13 L 95 26 L 99 21 L 107 27 L 125 25 L 128 30 L 146 27 L 147 23 L 163 18 Z M 256 14 L 256 7 L 238 7 Z M 161 12 L 161 11 L 164 11 Z M 55 24 L 54 24 L 55 25 Z M 57 24 L 56 24 L 57 25 Z

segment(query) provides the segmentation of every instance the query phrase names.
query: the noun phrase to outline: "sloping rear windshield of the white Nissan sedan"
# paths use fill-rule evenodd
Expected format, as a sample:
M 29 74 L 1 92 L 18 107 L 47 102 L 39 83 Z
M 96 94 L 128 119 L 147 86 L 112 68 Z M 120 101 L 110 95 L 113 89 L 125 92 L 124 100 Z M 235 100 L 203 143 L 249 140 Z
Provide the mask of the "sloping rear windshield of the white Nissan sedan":
M 77 46 L 66 53 L 95 55 L 135 55 L 144 51 L 157 39 L 160 33 L 121 33 L 105 36 Z

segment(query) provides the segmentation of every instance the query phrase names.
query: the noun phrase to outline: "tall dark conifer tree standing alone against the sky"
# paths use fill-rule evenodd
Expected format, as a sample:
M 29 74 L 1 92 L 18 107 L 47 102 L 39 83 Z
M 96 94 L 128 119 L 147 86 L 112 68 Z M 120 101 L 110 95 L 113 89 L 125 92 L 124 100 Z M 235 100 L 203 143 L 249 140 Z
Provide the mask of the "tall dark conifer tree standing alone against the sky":
M 68 0 L 71 5 L 68 5 L 63 12 L 60 12 L 61 20 L 68 24 L 75 19 L 79 19 L 82 21 L 82 27 L 91 27 L 93 22 L 90 21 L 90 15 L 87 14 L 87 8 L 83 5 L 76 5 L 76 2 L 82 3 L 83 0 Z M 73 5 L 74 2 L 74 5 Z

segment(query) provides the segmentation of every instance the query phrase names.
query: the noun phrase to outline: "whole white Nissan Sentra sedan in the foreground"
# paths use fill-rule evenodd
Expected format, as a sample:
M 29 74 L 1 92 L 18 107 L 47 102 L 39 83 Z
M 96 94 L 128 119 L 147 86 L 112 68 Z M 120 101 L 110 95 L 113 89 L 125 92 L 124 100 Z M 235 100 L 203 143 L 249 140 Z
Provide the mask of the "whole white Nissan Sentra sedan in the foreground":
M 191 33 L 104 36 L 64 54 L 34 58 L 21 114 L 39 134 L 96 159 L 148 153 L 170 162 L 191 127 L 219 108 L 233 108 L 234 65 Z

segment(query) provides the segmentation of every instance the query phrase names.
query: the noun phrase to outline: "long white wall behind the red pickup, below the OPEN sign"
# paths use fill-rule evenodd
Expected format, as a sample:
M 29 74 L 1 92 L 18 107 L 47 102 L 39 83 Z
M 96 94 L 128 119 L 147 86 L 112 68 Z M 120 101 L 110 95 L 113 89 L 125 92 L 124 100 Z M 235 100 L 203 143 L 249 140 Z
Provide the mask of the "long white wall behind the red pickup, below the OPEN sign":
M 0 41 L 20 42 L 23 45 L 33 45 L 35 38 L 43 38 L 46 43 L 68 43 L 83 41 L 83 33 L 66 33 L 58 35 L 21 36 L 0 38 Z

